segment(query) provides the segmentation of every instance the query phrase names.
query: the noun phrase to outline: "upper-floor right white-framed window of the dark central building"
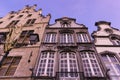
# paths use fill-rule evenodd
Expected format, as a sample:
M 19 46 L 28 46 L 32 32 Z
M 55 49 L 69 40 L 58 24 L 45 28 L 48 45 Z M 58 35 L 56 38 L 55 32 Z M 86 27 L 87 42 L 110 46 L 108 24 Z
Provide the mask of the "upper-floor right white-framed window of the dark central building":
M 77 33 L 77 42 L 90 42 L 90 39 L 88 37 L 87 33 Z

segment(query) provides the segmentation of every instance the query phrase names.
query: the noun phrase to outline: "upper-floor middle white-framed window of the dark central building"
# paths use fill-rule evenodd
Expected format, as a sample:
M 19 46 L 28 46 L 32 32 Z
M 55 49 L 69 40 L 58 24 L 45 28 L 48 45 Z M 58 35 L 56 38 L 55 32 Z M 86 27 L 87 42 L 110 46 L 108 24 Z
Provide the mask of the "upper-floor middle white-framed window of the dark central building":
M 71 33 L 60 34 L 60 43 L 74 43 L 73 34 Z

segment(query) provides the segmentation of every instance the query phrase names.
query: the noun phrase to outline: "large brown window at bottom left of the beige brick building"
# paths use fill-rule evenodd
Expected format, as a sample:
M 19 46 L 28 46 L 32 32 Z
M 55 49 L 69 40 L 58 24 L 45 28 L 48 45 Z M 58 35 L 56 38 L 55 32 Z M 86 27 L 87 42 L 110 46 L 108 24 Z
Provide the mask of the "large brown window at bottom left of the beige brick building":
M 21 57 L 7 57 L 0 68 L 0 76 L 13 76 Z

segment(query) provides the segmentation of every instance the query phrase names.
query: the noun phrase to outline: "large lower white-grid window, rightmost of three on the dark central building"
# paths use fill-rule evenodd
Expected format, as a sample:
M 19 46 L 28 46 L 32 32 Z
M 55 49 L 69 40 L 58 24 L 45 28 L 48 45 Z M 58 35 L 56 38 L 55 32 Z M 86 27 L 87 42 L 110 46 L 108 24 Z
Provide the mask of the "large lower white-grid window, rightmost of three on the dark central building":
M 84 75 L 86 77 L 102 76 L 102 72 L 94 52 L 81 52 Z

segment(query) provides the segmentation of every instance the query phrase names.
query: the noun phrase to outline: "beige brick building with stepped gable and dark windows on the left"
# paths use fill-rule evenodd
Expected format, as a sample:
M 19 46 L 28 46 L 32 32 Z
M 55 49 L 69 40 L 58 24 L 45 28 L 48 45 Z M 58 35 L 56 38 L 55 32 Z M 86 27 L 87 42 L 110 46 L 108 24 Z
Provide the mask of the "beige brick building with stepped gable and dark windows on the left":
M 0 18 L 0 80 L 31 80 L 50 15 L 26 5 Z

